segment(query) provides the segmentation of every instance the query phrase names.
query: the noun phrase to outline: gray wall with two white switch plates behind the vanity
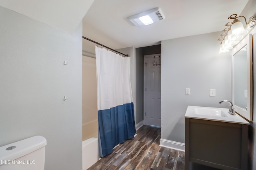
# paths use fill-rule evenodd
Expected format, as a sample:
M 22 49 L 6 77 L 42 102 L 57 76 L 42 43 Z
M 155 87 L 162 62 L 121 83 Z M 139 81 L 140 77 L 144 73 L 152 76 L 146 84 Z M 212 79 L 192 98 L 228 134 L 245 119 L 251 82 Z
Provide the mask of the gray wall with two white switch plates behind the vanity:
M 185 143 L 188 106 L 227 107 L 231 100 L 231 53 L 218 54 L 221 32 L 162 41 L 161 138 Z M 190 95 L 185 89 L 190 88 Z M 216 89 L 216 97 L 210 97 Z

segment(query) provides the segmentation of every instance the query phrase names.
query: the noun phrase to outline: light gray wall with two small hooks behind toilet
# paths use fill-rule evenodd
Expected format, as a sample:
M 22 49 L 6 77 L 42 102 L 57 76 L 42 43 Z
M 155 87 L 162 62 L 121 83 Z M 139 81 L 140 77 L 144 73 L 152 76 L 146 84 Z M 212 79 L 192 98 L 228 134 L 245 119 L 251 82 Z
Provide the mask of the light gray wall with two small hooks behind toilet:
M 1 6 L 0 23 L 0 146 L 41 135 L 45 170 L 81 170 L 82 23 L 69 34 Z

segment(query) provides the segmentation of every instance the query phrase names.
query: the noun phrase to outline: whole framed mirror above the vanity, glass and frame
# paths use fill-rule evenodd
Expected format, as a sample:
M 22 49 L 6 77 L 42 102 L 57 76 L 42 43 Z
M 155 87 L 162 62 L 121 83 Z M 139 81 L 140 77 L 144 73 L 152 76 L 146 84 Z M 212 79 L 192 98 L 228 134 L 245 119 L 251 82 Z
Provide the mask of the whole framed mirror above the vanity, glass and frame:
M 232 50 L 232 103 L 236 113 L 252 121 L 252 35 Z

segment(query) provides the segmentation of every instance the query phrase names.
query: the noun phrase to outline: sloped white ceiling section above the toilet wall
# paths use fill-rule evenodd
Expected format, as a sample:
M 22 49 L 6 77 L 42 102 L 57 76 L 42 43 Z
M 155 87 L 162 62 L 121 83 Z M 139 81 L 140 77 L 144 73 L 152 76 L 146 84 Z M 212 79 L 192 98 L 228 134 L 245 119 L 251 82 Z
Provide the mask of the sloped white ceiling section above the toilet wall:
M 0 0 L 0 6 L 72 33 L 94 0 Z

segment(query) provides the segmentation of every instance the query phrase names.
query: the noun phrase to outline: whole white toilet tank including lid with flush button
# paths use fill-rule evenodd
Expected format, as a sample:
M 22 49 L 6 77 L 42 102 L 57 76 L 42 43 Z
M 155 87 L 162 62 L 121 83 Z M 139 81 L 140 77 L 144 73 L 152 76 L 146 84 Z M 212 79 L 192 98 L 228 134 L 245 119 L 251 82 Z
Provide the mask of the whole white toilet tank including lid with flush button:
M 45 145 L 34 136 L 0 147 L 0 170 L 44 170 Z

